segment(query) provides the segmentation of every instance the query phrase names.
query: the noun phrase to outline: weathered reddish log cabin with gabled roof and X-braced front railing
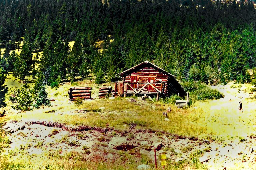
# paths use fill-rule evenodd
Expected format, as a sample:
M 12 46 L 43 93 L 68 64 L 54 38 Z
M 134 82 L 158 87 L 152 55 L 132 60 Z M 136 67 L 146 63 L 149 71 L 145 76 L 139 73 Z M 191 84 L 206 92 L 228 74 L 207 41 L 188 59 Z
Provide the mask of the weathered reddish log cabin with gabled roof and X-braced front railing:
M 117 95 L 127 94 L 152 94 L 166 97 L 172 94 L 185 96 L 186 92 L 174 75 L 168 73 L 155 64 L 144 61 L 128 70 L 116 75 L 120 81 L 115 81 L 115 92 Z

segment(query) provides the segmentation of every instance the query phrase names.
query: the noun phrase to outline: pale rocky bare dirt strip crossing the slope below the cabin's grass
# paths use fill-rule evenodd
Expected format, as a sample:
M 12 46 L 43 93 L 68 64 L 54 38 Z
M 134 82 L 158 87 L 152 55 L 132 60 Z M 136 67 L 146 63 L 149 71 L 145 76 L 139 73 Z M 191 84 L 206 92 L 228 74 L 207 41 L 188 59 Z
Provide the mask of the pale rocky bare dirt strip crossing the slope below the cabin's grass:
M 252 169 L 256 166 L 255 139 L 251 136 L 243 140 L 220 142 L 135 128 L 120 132 L 113 128 L 70 127 L 39 121 L 12 121 L 5 128 L 16 125 L 22 125 L 23 128 L 7 134 L 11 144 L 6 153 L 22 149 L 28 155 L 39 155 L 55 150 L 60 156 L 64 156 L 75 151 L 84 154 L 86 160 L 93 159 L 100 153 L 103 160 L 112 161 L 116 158 L 115 150 L 133 150 L 154 159 L 156 147 L 157 156 L 166 152 L 167 159 L 176 162 L 191 159 L 191 155 L 200 150 L 203 156 L 199 161 L 208 169 Z

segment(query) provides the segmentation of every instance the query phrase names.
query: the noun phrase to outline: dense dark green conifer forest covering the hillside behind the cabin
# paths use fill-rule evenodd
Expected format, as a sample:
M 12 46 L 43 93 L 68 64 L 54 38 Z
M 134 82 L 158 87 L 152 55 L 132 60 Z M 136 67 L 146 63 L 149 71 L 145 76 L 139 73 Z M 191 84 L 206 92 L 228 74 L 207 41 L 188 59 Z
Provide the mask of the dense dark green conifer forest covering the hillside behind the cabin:
M 75 76 L 90 73 L 101 83 L 149 60 L 181 81 L 248 82 L 256 67 L 253 4 L 1 0 L 0 45 L 5 51 L 0 74 L 13 72 L 20 79 L 33 75 L 38 87 L 43 80 L 72 82 Z M 101 40 L 103 52 L 95 46 Z M 21 53 L 10 53 L 21 41 Z M 70 41 L 75 41 L 72 50 Z M 42 56 L 32 56 L 40 51 Z

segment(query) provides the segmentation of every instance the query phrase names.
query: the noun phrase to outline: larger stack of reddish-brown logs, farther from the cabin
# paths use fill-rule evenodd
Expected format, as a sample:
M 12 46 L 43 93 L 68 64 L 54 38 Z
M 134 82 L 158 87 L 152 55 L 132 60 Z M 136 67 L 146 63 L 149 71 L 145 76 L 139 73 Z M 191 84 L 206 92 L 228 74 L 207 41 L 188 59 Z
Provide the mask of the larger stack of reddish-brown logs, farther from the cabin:
M 77 98 L 81 99 L 92 99 L 91 98 L 92 88 L 91 87 L 72 87 L 69 89 L 69 99 L 75 100 Z

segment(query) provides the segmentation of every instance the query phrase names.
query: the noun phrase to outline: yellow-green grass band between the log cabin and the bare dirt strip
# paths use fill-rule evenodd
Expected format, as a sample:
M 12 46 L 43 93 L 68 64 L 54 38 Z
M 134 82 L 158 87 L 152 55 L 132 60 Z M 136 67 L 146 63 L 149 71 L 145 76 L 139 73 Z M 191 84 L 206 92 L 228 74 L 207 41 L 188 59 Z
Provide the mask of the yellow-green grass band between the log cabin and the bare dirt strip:
M 8 77 L 13 82 L 18 79 Z M 20 87 L 23 84 L 6 85 L 10 89 L 15 86 Z M 77 86 L 92 87 L 92 96 L 97 98 L 98 88 L 104 85 L 96 85 L 93 80 L 85 79 L 75 83 Z M 32 84 L 31 84 L 32 87 Z M 45 107 L 26 113 L 8 115 L 9 120 L 41 120 L 60 122 L 67 125 L 89 125 L 105 128 L 114 127 L 117 130 L 127 130 L 131 125 L 136 128 L 153 129 L 156 131 L 166 131 L 178 135 L 198 136 L 200 138 L 223 138 L 246 137 L 254 133 L 256 122 L 254 116 L 256 113 L 256 101 L 243 99 L 244 113 L 238 112 L 238 101 L 228 101 L 227 98 L 219 100 L 197 101 L 188 109 L 178 109 L 170 105 L 172 112 L 168 113 L 169 121 L 164 121 L 162 112 L 169 105 L 159 102 L 143 103 L 130 102 L 130 99 L 117 98 L 115 100 L 86 100 L 84 104 L 77 107 L 74 102 L 69 101 L 68 90 L 73 85 L 64 83 L 59 88 L 47 86 L 48 97 L 55 99 L 52 107 Z M 240 86 L 238 88 L 241 88 Z M 234 91 L 237 89 L 234 88 Z M 10 106 L 10 102 L 7 101 Z M 98 109 L 105 107 L 101 112 L 77 113 L 79 110 Z M 55 110 L 55 113 L 46 113 Z M 9 112 L 16 113 L 9 107 Z

